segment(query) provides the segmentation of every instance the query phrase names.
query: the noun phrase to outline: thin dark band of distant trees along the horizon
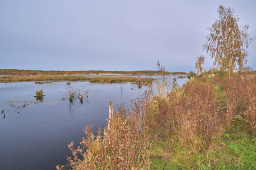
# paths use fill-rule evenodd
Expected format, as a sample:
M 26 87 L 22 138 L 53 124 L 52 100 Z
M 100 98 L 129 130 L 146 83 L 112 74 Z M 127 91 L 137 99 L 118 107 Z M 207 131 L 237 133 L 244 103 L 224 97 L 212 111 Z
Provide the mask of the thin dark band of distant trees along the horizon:
M 159 75 L 159 71 L 43 71 L 43 70 L 18 70 L 18 69 L 0 69 L 0 75 Z M 165 71 L 166 75 L 186 75 L 185 72 L 170 73 Z

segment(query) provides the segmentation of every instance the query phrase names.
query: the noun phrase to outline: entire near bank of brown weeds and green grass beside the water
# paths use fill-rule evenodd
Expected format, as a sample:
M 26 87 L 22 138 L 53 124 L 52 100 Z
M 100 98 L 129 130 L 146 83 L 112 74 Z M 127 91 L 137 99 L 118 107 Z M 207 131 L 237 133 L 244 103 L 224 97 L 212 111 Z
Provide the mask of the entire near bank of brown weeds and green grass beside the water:
M 255 169 L 256 78 L 197 78 L 183 87 L 157 80 L 108 128 L 85 129 L 73 169 Z M 83 159 L 79 159 L 77 154 Z M 57 169 L 61 167 L 57 166 Z

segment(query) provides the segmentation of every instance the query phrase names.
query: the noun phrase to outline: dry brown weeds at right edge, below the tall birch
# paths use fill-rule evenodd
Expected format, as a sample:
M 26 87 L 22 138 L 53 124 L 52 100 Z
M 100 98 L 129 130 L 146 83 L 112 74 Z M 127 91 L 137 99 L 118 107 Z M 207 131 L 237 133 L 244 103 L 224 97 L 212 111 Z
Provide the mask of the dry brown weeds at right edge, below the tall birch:
M 256 78 L 254 75 L 234 75 L 216 79 L 226 94 L 226 122 L 228 128 L 236 126 L 256 135 Z

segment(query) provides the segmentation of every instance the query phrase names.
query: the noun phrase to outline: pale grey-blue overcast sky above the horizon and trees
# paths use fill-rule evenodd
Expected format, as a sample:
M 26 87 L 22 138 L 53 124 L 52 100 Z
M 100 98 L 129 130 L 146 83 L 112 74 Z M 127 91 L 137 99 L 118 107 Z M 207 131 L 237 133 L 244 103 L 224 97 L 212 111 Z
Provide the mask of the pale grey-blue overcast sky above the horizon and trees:
M 256 36 L 256 1 L 1 0 L 0 69 L 196 71 L 218 7 Z M 256 69 L 256 40 L 248 49 Z

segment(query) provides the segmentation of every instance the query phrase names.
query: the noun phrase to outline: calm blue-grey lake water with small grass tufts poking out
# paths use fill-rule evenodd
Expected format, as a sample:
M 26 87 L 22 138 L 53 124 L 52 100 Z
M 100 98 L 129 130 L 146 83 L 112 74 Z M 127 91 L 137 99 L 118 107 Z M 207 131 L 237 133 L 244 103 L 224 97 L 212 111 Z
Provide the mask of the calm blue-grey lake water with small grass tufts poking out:
M 70 87 L 88 92 L 88 97 L 82 103 L 63 100 Z M 40 89 L 45 96 L 36 100 Z M 0 111 L 5 112 L 5 117 L 0 116 L 0 169 L 55 169 L 66 164 L 67 156 L 72 156 L 68 145 L 79 146 L 85 125 L 94 124 L 94 131 L 105 126 L 109 101 L 113 107 L 129 103 L 144 90 L 147 87 L 139 89 L 133 83 L 0 83 Z

